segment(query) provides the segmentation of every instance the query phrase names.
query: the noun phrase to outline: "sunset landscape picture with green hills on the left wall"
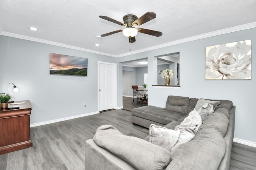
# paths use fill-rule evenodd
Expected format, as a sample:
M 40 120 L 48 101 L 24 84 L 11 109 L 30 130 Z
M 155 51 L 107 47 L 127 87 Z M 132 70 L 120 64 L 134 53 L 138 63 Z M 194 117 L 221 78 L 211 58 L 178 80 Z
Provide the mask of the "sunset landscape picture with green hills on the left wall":
M 50 53 L 50 74 L 87 76 L 88 59 Z

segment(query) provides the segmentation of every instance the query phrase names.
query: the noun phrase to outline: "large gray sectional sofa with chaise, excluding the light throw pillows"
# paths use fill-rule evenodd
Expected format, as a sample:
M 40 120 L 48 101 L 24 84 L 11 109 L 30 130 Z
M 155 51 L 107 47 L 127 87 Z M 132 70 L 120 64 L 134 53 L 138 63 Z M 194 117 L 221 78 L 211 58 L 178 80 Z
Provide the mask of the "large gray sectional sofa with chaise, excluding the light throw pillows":
M 144 106 L 132 109 L 132 123 L 175 129 L 197 106 L 198 98 L 168 96 L 166 108 Z M 144 140 L 128 137 L 111 125 L 99 127 L 86 141 L 85 169 L 97 170 L 228 170 L 234 135 L 235 106 L 219 101 L 194 138 L 169 151 Z

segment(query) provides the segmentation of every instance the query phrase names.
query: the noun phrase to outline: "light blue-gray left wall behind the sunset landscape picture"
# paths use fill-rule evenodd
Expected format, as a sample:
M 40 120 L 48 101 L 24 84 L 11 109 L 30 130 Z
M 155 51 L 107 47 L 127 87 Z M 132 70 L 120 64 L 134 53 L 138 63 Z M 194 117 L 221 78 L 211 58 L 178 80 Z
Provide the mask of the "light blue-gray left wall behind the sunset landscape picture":
M 50 75 L 50 53 L 88 58 L 88 76 Z M 30 123 L 97 112 L 98 61 L 117 63 L 117 58 L 0 36 L 0 92 L 6 93 L 9 82 L 20 88 L 13 95 L 15 100 L 32 103 Z M 118 97 L 117 105 L 122 106 L 122 98 Z

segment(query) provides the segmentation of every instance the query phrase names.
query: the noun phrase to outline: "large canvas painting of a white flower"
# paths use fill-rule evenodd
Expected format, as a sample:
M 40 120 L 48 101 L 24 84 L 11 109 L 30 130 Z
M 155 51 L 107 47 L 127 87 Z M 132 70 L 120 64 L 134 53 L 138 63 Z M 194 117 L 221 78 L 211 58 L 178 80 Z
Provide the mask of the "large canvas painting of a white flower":
M 252 40 L 206 47 L 206 80 L 251 80 Z

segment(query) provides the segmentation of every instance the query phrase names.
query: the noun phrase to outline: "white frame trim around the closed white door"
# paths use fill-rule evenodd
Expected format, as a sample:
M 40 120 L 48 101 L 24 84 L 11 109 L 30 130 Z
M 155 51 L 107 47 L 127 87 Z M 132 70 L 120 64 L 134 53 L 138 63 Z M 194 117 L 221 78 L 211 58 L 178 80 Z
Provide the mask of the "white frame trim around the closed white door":
M 117 64 L 116 63 L 107 63 L 103 61 L 98 61 L 98 113 L 100 112 L 100 64 L 108 64 L 114 68 L 114 75 L 112 79 L 113 84 L 113 107 L 117 108 Z

